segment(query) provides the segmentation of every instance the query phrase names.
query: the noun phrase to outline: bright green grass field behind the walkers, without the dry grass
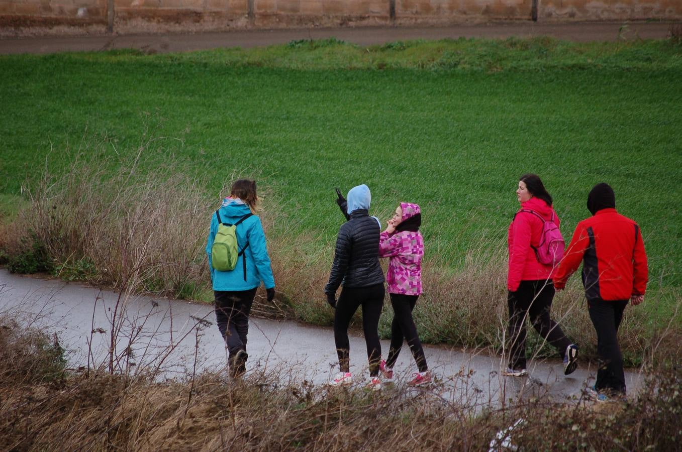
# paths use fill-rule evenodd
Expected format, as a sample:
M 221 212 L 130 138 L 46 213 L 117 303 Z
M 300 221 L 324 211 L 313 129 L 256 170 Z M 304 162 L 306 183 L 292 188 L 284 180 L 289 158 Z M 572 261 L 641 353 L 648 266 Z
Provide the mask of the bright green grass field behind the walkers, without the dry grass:
M 670 42 L 328 40 L 0 67 L 3 202 L 45 157 L 68 167 L 83 140 L 106 136 L 106 152 L 130 156 L 154 136 L 158 161 L 216 189 L 256 177 L 286 218 L 275 234 L 327 245 L 342 220 L 336 186 L 367 183 L 382 218 L 418 202 L 428 258 L 457 267 L 481 241 L 505 246 L 518 177 L 537 172 L 567 236 L 589 215 L 590 187 L 610 183 L 642 227 L 652 284 L 682 284 L 682 47 Z

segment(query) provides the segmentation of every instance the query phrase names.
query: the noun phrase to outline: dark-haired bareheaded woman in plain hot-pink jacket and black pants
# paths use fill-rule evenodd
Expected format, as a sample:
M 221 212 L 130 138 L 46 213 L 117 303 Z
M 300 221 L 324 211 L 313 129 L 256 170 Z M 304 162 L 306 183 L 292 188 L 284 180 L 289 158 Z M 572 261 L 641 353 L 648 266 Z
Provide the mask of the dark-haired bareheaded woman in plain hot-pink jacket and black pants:
M 557 322 L 550 318 L 554 299 L 554 267 L 540 263 L 533 250 L 533 247 L 537 248 L 539 245 L 544 221 L 553 221 L 559 226 L 559 216 L 552 208 L 552 196 L 537 175 L 523 175 L 518 182 L 516 196 L 521 207 L 509 224 L 507 235 L 509 367 L 502 374 L 527 374 L 525 320 L 529 317 L 535 330 L 557 348 L 559 356 L 563 358 L 564 374 L 568 375 L 578 367 L 578 346 L 568 340 Z

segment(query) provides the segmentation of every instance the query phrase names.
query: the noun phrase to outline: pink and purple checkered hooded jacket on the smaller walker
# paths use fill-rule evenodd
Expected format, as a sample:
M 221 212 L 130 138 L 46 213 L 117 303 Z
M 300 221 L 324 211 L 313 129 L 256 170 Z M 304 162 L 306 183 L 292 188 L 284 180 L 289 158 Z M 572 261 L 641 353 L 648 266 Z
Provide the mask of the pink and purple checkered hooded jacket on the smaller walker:
M 400 207 L 401 222 L 421 213 L 416 204 L 401 202 Z M 379 257 L 390 258 L 386 273 L 389 293 L 421 295 L 421 258 L 424 257 L 424 238 L 421 237 L 421 232 L 403 230 L 392 235 L 381 232 Z

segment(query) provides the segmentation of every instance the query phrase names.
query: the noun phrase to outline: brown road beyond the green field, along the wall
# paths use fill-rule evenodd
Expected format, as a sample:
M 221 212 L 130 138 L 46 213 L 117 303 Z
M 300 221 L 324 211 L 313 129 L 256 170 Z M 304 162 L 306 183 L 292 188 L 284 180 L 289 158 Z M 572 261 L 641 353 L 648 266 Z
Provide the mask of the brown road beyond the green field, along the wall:
M 23 37 L 0 39 L 0 55 L 15 53 L 83 52 L 135 48 L 147 52 L 188 52 L 219 47 L 258 47 L 284 44 L 291 40 L 336 37 L 361 46 L 398 40 L 438 40 L 458 37 L 506 38 L 548 35 L 571 41 L 614 41 L 618 39 L 664 39 L 670 23 L 509 22 L 451 27 L 368 27 L 331 29 L 286 29 L 226 31 L 198 34 L 92 35 L 74 37 Z

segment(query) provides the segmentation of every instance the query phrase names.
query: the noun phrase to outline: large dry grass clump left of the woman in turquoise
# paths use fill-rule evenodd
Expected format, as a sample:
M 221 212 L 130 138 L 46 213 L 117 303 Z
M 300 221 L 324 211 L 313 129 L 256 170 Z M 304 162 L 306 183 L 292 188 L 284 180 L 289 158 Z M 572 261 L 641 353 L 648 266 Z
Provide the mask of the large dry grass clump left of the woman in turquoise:
M 130 165 L 91 152 L 63 177 L 46 170 L 27 189 L 31 206 L 18 215 L 8 251 L 31 234 L 58 275 L 180 297 L 203 289 L 203 232 L 219 195 L 186 168 L 150 164 L 159 150 L 148 146 Z

